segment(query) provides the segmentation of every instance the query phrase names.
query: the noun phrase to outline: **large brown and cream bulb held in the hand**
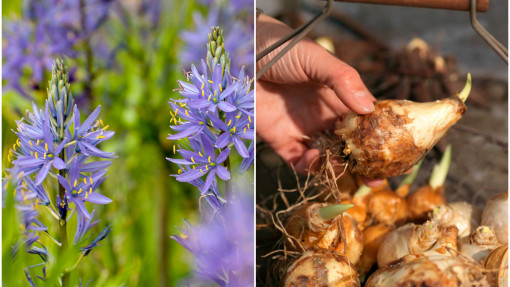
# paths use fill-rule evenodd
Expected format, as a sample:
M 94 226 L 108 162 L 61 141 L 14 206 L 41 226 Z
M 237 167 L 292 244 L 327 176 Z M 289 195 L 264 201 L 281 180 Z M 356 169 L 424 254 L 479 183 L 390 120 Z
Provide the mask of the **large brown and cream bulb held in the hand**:
M 375 179 L 401 175 L 416 165 L 466 111 L 458 97 L 435 102 L 375 102 L 367 115 L 349 112 L 335 133 L 352 173 Z

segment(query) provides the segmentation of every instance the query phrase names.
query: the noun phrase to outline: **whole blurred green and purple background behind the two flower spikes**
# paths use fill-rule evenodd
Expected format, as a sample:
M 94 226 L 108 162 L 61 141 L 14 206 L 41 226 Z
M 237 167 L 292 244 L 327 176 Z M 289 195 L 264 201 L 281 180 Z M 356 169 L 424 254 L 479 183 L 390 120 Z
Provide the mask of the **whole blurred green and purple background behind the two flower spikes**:
M 244 65 L 253 76 L 253 2 L 2 1 L 2 17 L 2 170 L 9 167 L 15 121 L 31 102 L 44 106 L 57 56 L 69 67 L 82 114 L 101 105 L 98 118 L 115 131 L 101 145 L 118 156 L 100 187 L 113 202 L 94 206 L 101 222 L 92 232 L 107 224 L 113 231 L 80 264 L 83 286 L 177 286 L 193 280 L 191 255 L 170 235 L 179 233 L 184 218 L 200 221 L 200 193 L 170 176 L 177 167 L 166 160 L 174 144 L 166 139 L 168 102 L 179 97 L 177 80 L 186 80 L 190 64 L 205 59 L 211 26 L 224 29 L 232 74 Z M 2 224 L 5 255 L 19 238 L 19 225 L 7 212 Z M 21 256 L 12 263 L 3 256 L 3 285 L 27 285 L 25 259 L 33 260 Z

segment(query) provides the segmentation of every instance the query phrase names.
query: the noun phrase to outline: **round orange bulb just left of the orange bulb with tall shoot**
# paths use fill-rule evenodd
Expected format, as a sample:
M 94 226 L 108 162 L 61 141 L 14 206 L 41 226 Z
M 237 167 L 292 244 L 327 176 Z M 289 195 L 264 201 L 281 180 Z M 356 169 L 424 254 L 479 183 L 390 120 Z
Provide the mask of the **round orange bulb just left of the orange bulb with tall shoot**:
M 400 226 L 407 220 L 406 201 L 390 190 L 375 192 L 368 202 L 367 212 L 375 223 Z

